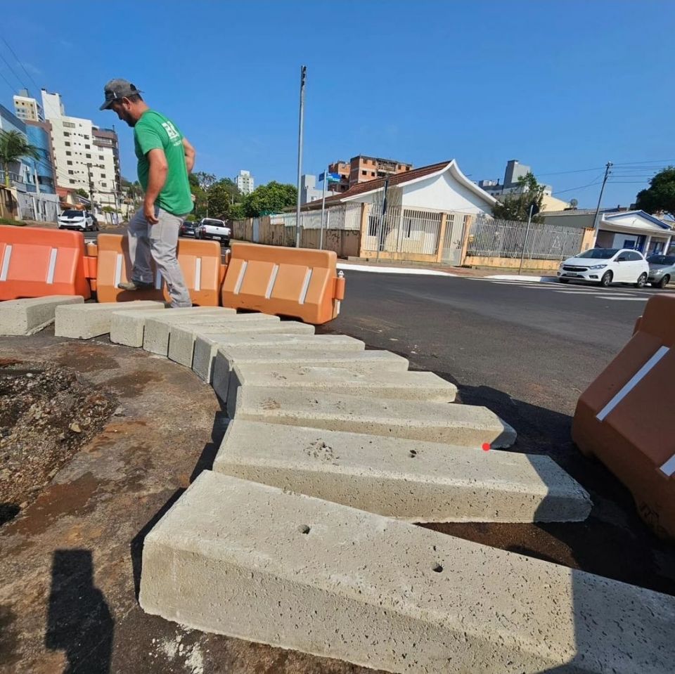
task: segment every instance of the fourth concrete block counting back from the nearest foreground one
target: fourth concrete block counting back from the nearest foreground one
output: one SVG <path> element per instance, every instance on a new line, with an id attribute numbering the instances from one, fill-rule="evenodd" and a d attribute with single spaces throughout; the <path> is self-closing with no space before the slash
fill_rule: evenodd
<path id="1" fill-rule="evenodd" d="M 240 386 L 283 387 L 375 398 L 451 403 L 457 387 L 433 372 L 355 372 L 310 365 L 236 365 L 230 377 L 228 411 L 233 416 Z"/>

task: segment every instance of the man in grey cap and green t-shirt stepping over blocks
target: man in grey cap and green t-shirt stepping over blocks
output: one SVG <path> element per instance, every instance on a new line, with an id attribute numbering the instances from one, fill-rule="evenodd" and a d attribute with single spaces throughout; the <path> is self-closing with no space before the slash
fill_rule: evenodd
<path id="1" fill-rule="evenodd" d="M 139 182 L 146 195 L 127 232 L 134 265 L 131 280 L 117 287 L 153 288 L 152 256 L 167 283 L 171 306 L 192 306 L 176 259 L 176 245 L 181 223 L 193 207 L 188 172 L 195 163 L 195 150 L 173 122 L 150 110 L 131 82 L 111 79 L 103 91 L 101 110 L 113 110 L 134 129 Z"/>

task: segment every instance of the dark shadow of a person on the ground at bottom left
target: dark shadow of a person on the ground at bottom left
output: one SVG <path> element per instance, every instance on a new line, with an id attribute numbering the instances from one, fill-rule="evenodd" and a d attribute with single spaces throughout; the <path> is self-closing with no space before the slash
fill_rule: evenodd
<path id="1" fill-rule="evenodd" d="M 50 650 L 63 650 L 63 674 L 107 674 L 115 621 L 103 592 L 94 587 L 91 550 L 56 550 L 44 637 Z"/>

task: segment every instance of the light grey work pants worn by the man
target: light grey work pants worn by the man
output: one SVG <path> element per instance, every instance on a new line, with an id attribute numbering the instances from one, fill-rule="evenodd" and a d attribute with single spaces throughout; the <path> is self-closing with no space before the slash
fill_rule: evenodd
<path id="1" fill-rule="evenodd" d="M 139 209 L 129 221 L 129 257 L 134 265 L 131 280 L 153 283 L 150 256 L 167 283 L 171 306 L 192 306 L 190 293 L 186 288 L 183 273 L 176 259 L 178 232 L 183 218 L 164 209 L 158 210 L 158 223 L 151 225 Z"/>

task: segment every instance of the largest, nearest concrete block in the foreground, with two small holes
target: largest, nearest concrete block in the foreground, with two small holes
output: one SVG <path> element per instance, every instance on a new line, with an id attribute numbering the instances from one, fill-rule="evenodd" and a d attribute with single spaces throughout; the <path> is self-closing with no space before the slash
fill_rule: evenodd
<path id="1" fill-rule="evenodd" d="M 143 544 L 141 607 L 397 673 L 666 674 L 675 598 L 205 471 Z"/>

